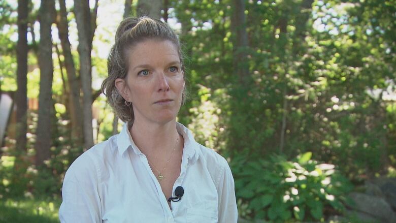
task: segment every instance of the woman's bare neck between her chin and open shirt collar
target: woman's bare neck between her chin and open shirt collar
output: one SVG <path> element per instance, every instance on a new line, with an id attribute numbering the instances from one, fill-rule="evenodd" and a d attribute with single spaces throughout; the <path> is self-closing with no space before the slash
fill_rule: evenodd
<path id="1" fill-rule="evenodd" d="M 175 147 L 179 137 L 176 120 L 167 123 L 141 122 L 135 120 L 129 129 L 132 139 L 146 155 L 160 156 L 168 154 Z"/>

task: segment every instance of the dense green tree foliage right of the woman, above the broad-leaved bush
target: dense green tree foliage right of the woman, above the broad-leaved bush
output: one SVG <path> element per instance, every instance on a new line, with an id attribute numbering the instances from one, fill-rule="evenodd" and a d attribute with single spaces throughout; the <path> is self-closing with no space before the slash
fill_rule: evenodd
<path id="1" fill-rule="evenodd" d="M 356 183 L 395 164 L 392 1 L 246 1 L 248 85 L 233 70 L 231 1 L 172 6 L 193 61 L 191 95 L 202 86 L 225 90 L 225 102 L 209 101 L 221 109 L 220 144 L 229 156 L 244 150 L 258 154 L 254 160 L 274 152 L 290 158 L 315 148 L 317 160 Z M 182 120 L 209 104 L 197 101 L 186 104 Z"/>

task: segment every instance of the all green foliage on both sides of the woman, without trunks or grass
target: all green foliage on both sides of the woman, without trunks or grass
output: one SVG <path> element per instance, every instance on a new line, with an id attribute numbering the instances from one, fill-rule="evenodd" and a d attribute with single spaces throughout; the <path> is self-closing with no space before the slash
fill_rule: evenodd
<path id="1" fill-rule="evenodd" d="M 233 1 L 168 2 L 168 21 L 180 25 L 176 29 L 187 57 L 191 95 L 178 121 L 193 131 L 198 142 L 231 160 L 242 215 L 320 220 L 342 212 L 344 193 L 351 187 L 342 175 L 354 185 L 377 175 L 395 175 L 393 0 L 245 1 L 249 47 L 242 50 L 249 59 L 248 84 L 242 84 L 235 72 L 234 52 L 241 49 L 235 47 Z M 34 25 L 38 4 L 31 4 L 28 37 L 39 38 Z M 100 1 L 92 51 L 93 91 L 107 74 L 103 55 L 118 23 L 110 18 L 122 5 L 123 1 Z M 0 0 L 0 6 L 0 83 L 2 90 L 14 91 L 16 5 Z M 69 38 L 78 68 L 77 30 L 70 7 Z M 106 10 L 101 11 L 102 7 Z M 59 44 L 56 35 L 53 42 Z M 39 92 L 34 44 L 29 39 L 28 98 L 37 98 Z M 37 116 L 32 111 L 26 152 L 14 148 L 13 139 L 2 148 L 3 198 L 59 196 L 64 172 L 84 151 L 70 138 L 69 105 L 64 97 L 67 75 L 63 85 L 57 59 L 54 68 L 58 120 L 51 158 L 43 167 L 33 165 Z M 93 107 L 101 111 L 96 115 L 99 142 L 111 136 L 114 116 L 103 95 Z"/>

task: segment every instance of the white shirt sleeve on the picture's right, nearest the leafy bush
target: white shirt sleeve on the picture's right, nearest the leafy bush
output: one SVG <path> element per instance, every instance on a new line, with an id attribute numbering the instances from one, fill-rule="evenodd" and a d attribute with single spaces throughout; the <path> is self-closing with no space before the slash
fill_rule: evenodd
<path id="1" fill-rule="evenodd" d="M 223 158 L 222 170 L 218 180 L 218 223 L 237 223 L 238 209 L 235 197 L 233 174 L 227 161 Z"/>

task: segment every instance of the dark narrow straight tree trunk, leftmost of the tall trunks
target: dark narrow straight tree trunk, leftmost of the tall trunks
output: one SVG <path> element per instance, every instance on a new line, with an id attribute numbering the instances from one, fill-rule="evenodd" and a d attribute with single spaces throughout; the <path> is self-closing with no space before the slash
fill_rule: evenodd
<path id="1" fill-rule="evenodd" d="M 17 43 L 17 84 L 15 102 L 17 106 L 16 148 L 26 150 L 27 114 L 27 13 L 28 0 L 18 0 L 18 43 Z"/>

